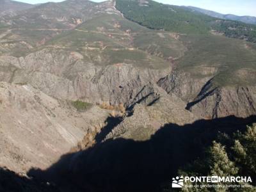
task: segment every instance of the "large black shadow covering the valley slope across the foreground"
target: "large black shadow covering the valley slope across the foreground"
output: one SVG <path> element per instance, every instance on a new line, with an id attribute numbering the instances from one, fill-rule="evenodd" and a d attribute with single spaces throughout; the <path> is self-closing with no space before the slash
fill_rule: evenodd
<path id="1" fill-rule="evenodd" d="M 219 131 L 244 131 L 253 122 L 256 116 L 167 124 L 148 141 L 107 140 L 28 175 L 54 182 L 63 191 L 161 191 L 161 184 L 177 176 L 179 168 L 202 156 Z"/>

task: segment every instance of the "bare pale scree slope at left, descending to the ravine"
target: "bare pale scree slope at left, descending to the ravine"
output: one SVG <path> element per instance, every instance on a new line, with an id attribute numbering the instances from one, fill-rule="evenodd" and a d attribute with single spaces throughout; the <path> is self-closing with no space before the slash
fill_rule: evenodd
<path id="1" fill-rule="evenodd" d="M 16 172 L 47 168 L 109 115 L 97 106 L 79 113 L 32 86 L 8 83 L 0 83 L 0 113 L 0 166 Z"/>

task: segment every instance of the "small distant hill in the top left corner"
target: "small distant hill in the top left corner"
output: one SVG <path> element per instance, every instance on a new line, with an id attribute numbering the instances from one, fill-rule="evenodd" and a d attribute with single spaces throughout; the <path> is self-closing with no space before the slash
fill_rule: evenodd
<path id="1" fill-rule="evenodd" d="M 32 8 L 33 4 L 21 3 L 10 0 L 0 0 L 0 16 L 16 15 L 18 11 Z"/>

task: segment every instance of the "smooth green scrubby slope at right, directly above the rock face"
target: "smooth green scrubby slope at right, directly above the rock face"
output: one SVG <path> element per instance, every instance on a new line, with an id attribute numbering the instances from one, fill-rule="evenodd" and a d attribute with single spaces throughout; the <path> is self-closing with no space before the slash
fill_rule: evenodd
<path id="1" fill-rule="evenodd" d="M 202 77 L 207 71 L 198 70 L 199 68 L 216 68 L 213 79 L 216 86 L 256 83 L 255 44 L 218 35 L 187 35 L 182 36 L 181 40 L 188 51 L 177 61 L 177 70 Z"/>

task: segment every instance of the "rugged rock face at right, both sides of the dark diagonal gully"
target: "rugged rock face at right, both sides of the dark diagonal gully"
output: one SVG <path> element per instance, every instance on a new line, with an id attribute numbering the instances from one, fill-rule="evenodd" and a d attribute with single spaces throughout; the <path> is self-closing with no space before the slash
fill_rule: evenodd
<path id="1" fill-rule="evenodd" d="M 202 118 L 255 115 L 255 86 L 214 86 L 213 76 L 195 78 L 189 72 L 172 72 L 157 84 L 187 103 L 186 109 Z"/>

